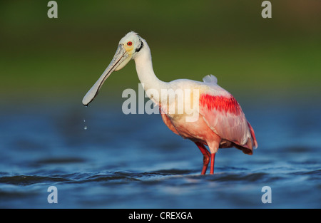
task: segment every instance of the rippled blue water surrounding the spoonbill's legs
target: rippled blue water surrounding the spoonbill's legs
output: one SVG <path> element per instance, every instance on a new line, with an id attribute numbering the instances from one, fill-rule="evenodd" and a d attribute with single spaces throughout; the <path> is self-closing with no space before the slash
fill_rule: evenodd
<path id="1" fill-rule="evenodd" d="M 160 115 L 102 101 L 1 105 L 1 208 L 321 207 L 321 104 L 240 102 L 258 149 L 219 150 L 215 175 L 200 175 L 200 151 Z"/>

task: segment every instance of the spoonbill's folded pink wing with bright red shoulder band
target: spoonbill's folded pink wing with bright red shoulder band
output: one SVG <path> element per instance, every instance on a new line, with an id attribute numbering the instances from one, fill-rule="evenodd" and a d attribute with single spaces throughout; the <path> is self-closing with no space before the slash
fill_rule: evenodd
<path id="1" fill-rule="evenodd" d="M 233 142 L 235 147 L 252 154 L 253 147 L 258 146 L 253 128 L 233 95 L 216 86 L 218 88 L 210 93 L 200 95 L 200 115 L 203 115 L 205 123 L 220 138 Z"/>

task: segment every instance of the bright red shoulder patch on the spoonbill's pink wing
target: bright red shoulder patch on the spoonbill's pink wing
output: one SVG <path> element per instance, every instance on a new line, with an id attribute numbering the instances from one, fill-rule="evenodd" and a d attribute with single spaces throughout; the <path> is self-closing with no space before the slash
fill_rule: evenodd
<path id="1" fill-rule="evenodd" d="M 220 112 L 233 113 L 234 115 L 240 115 L 242 113 L 242 108 L 240 108 L 240 104 L 233 95 L 225 97 L 201 94 L 200 106 L 206 107 L 208 110 L 215 109 Z"/>

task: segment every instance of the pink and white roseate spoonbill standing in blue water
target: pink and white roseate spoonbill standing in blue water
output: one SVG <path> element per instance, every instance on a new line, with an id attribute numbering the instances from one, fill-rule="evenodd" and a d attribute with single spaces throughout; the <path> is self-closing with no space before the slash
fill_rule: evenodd
<path id="1" fill-rule="evenodd" d="M 203 82 L 187 79 L 168 83 L 160 81 L 153 71 L 151 50 L 146 40 L 133 31 L 121 38 L 111 63 L 83 97 L 83 105 L 91 103 L 108 76 L 113 71 L 118 71 L 126 66 L 131 59 L 136 63 L 138 78 L 143 83 L 146 95 L 159 106 L 165 125 L 173 133 L 195 142 L 202 152 L 202 175 L 205 174 L 209 162 L 210 174 L 214 173 L 215 153 L 218 152 L 218 148 L 236 147 L 245 154 L 253 154 L 253 148 L 258 147 L 254 130 L 246 120 L 237 100 L 218 85 L 215 76 L 205 76 Z M 192 98 L 196 95 L 197 103 L 193 104 L 191 100 L 183 100 L 185 105 L 188 104 L 186 107 L 192 110 L 194 115 L 196 113 L 198 118 L 188 122 L 186 118 L 191 114 L 190 111 L 169 113 L 170 108 L 177 106 L 178 98 L 176 97 L 170 102 L 168 97 L 171 96 L 161 93 L 164 89 L 198 90 L 197 95 L 192 95 Z M 192 94 L 191 92 L 190 94 Z M 209 147 L 210 151 L 205 145 Z"/>

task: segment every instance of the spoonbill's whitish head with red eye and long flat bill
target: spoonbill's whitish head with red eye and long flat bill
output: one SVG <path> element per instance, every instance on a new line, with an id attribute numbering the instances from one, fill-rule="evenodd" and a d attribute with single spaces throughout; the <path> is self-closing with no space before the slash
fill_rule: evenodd
<path id="1" fill-rule="evenodd" d="M 83 97 L 83 105 L 88 105 L 91 103 L 108 76 L 110 76 L 113 71 L 119 71 L 121 68 L 126 66 L 131 59 L 134 59 L 138 55 L 144 45 L 146 45 L 146 41 L 144 41 L 141 36 L 138 36 L 138 34 L 133 31 L 127 33 L 126 36 L 121 38 L 111 63 L 109 63 L 108 67 L 98 81 L 96 81 L 88 93 L 86 93 L 86 95 Z"/>

